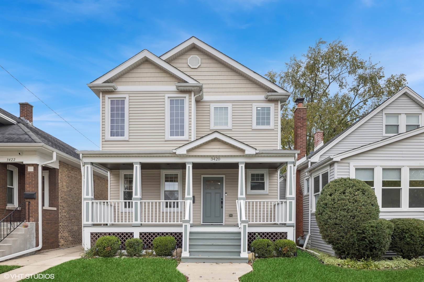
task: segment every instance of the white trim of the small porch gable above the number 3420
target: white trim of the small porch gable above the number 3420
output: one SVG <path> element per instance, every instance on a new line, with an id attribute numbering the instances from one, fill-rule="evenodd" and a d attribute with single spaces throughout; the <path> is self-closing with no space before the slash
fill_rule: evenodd
<path id="1" fill-rule="evenodd" d="M 196 148 L 196 147 L 203 145 L 203 144 L 205 144 L 209 141 L 212 141 L 214 139 L 218 139 L 222 142 L 225 142 L 229 145 L 232 145 L 236 148 L 239 148 L 240 150 L 245 151 L 245 155 L 252 156 L 252 155 L 256 154 L 255 148 L 250 147 L 250 146 L 248 146 L 248 145 L 246 145 L 246 144 L 244 144 L 240 141 L 234 140 L 234 139 L 232 139 L 232 138 L 230 138 L 230 137 L 228 137 L 228 136 L 226 136 L 226 135 L 224 135 L 220 132 L 213 132 L 213 133 L 208 134 L 204 137 L 201 137 L 201 138 L 199 138 L 195 141 L 192 141 L 192 142 L 190 142 L 186 145 L 183 145 L 183 146 L 176 149 L 176 154 L 177 155 L 185 155 L 185 154 L 187 154 L 187 151 L 190 151 L 190 149 Z"/>

